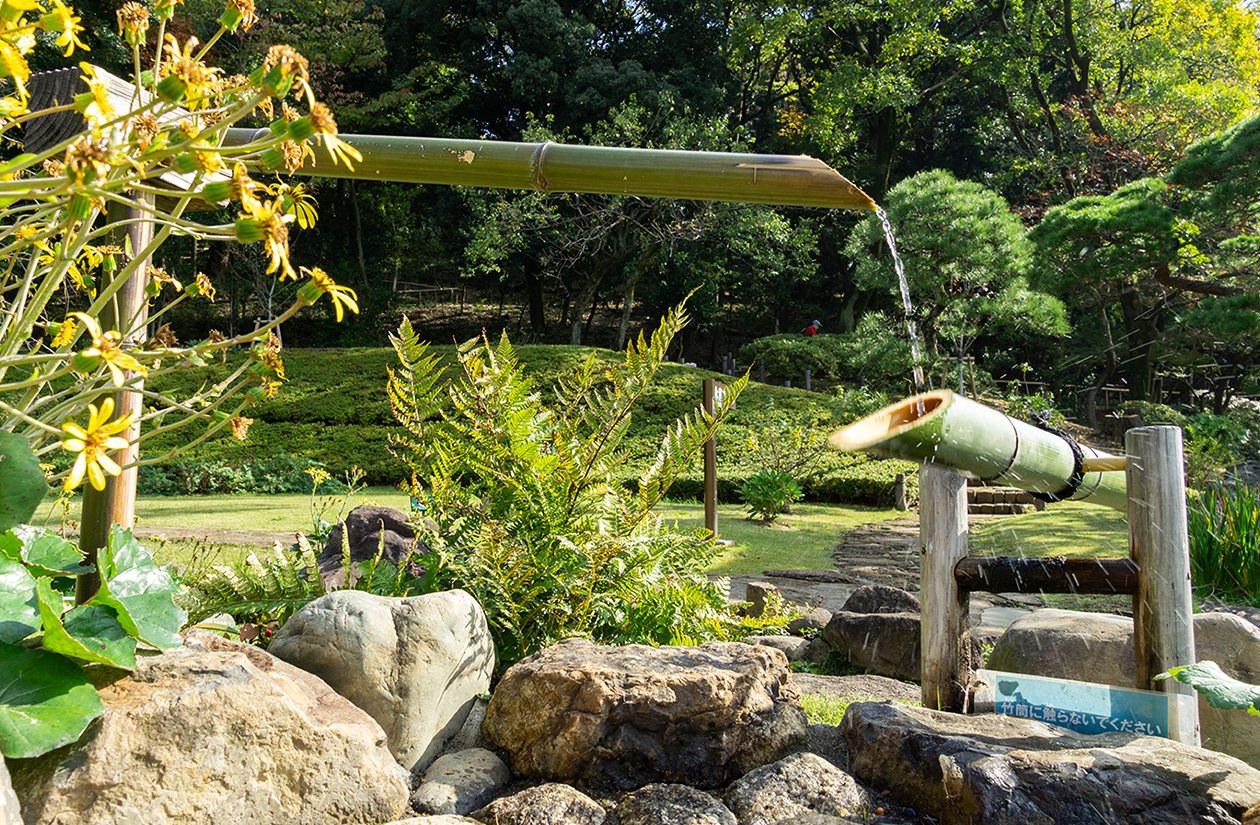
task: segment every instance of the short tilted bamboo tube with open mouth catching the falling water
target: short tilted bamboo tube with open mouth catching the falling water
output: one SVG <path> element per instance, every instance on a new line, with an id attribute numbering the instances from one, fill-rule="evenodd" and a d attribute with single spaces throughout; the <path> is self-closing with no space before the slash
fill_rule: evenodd
<path id="1" fill-rule="evenodd" d="M 941 464 L 980 481 L 1128 509 L 1124 472 L 1087 471 L 1092 447 L 1017 421 L 948 389 L 912 395 L 832 433 L 830 446 Z"/>

